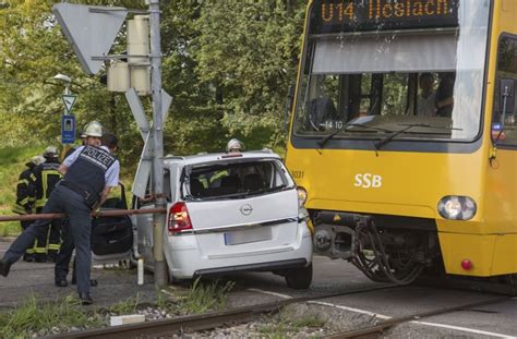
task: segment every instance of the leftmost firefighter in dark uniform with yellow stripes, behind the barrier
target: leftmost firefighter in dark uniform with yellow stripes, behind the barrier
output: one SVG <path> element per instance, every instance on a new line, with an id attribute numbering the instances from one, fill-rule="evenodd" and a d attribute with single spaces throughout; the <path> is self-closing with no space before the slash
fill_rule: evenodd
<path id="1" fill-rule="evenodd" d="M 19 215 L 29 215 L 35 213 L 35 186 L 34 182 L 36 177 L 34 175 L 34 168 L 39 164 L 44 162 L 45 158 L 41 156 L 32 157 L 28 162 L 25 164 L 27 167 L 21 174 L 16 184 L 16 202 L 13 204 L 12 210 Z M 22 226 L 22 231 L 31 226 L 33 221 L 22 220 L 20 221 Z M 33 247 L 33 246 L 31 246 Z M 34 262 L 34 249 L 28 249 L 23 255 L 25 262 Z"/>

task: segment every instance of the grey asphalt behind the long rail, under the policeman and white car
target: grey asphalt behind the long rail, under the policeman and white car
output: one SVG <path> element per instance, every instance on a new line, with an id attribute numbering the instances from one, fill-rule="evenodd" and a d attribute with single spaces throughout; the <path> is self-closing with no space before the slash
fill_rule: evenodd
<path id="1" fill-rule="evenodd" d="M 0 238 L 0 255 L 9 247 L 12 239 Z M 227 277 L 236 286 L 228 299 L 228 306 L 237 307 L 275 300 L 249 289 L 274 290 L 277 293 L 290 295 L 315 295 L 329 292 L 346 291 L 374 286 L 362 274 L 352 269 L 346 270 L 346 263 L 330 262 L 324 257 L 314 258 L 314 280 L 310 290 L 291 290 L 282 277 L 269 273 L 250 273 Z M 107 306 L 139 294 L 142 302 L 156 302 L 156 287 L 151 274 L 145 275 L 144 284 L 136 283 L 136 269 L 96 268 L 92 278 L 99 284 L 92 288 L 92 296 L 96 306 Z M 339 269 L 336 269 L 339 268 Z M 69 275 L 70 283 L 71 275 Z M 181 289 L 181 287 L 175 287 Z M 25 263 L 19 261 L 11 267 L 8 278 L 0 276 L 0 312 L 14 307 L 33 293 L 41 301 L 51 301 L 76 293 L 75 286 L 58 288 L 53 284 L 53 264 Z"/>

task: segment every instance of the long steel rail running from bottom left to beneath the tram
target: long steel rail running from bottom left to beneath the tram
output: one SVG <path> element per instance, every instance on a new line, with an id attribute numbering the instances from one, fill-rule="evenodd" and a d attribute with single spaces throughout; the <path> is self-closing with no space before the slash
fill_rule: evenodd
<path id="1" fill-rule="evenodd" d="M 256 318 L 260 314 L 278 312 L 281 307 L 293 304 L 320 300 L 325 298 L 334 298 L 348 294 L 365 293 L 400 286 L 388 284 L 369 289 L 357 289 L 341 293 L 330 293 L 313 296 L 300 296 L 292 299 L 284 299 L 276 302 L 256 304 L 251 306 L 237 307 L 223 312 L 211 312 L 201 315 L 187 315 L 170 319 L 145 322 L 140 324 L 120 325 L 115 327 L 106 327 L 98 329 L 89 329 L 83 331 L 64 332 L 50 336 L 48 338 L 142 338 L 145 336 L 165 337 L 175 332 L 192 332 L 199 330 L 212 329 L 225 325 L 240 324 Z"/>

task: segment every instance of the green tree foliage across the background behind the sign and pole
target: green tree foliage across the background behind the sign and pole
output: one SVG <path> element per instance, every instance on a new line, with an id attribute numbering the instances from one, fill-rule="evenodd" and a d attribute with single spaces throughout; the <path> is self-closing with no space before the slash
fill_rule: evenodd
<path id="1" fill-rule="evenodd" d="M 122 166 L 134 170 L 143 142 L 121 94 L 82 71 L 51 14 L 59 0 L 13 0 L 0 9 L 0 140 L 3 145 L 59 141 L 63 87 L 79 95 L 79 129 L 100 121 L 120 138 Z M 143 0 L 74 0 L 144 9 Z M 305 1 L 161 2 L 163 85 L 173 96 L 165 152 L 223 150 L 230 137 L 249 149 L 282 146 L 282 114 L 296 80 Z M 111 52 L 125 49 L 124 28 Z M 142 98 L 151 111 L 148 98 Z M 151 114 L 149 114 L 151 118 Z"/>

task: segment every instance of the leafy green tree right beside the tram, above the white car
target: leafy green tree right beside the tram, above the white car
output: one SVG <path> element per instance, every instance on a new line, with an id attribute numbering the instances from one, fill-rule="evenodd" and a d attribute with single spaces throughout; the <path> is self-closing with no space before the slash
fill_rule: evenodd
<path id="1" fill-rule="evenodd" d="M 303 5 L 294 1 L 204 2 L 194 40 L 197 72 L 230 135 L 253 148 L 284 141 L 282 114 L 296 66 Z"/>

